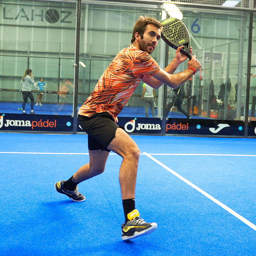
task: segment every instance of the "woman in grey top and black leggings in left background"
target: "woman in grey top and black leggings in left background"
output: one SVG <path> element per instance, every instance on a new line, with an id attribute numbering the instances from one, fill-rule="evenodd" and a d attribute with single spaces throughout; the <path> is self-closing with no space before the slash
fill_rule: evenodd
<path id="1" fill-rule="evenodd" d="M 34 78 L 32 75 L 31 69 L 26 69 L 25 74 L 22 76 L 21 79 L 22 85 L 22 96 L 23 96 L 23 103 L 22 103 L 22 114 L 26 114 L 25 106 L 27 103 L 27 98 L 30 98 L 31 101 L 31 111 L 30 114 L 34 114 L 34 96 L 31 93 L 31 85 L 34 85 Z"/>

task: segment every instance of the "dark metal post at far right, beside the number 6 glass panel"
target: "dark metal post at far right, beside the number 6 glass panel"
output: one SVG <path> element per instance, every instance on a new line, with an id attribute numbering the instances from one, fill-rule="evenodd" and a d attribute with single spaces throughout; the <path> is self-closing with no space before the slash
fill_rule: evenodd
<path id="1" fill-rule="evenodd" d="M 244 136 L 248 136 L 249 122 L 249 97 L 250 97 L 250 78 L 251 78 L 251 49 L 252 49 L 252 28 L 253 28 L 253 11 L 250 11 L 249 36 L 248 36 L 248 58 L 247 58 L 247 79 L 246 79 L 246 98 L 245 98 L 245 132 Z"/>

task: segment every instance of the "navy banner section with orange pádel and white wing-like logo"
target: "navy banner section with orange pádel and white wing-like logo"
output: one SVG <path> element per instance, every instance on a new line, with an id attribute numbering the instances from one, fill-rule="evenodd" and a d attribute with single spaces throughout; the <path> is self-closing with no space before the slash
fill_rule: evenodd
<path id="1" fill-rule="evenodd" d="M 169 118 L 166 134 L 244 136 L 243 121 Z"/>

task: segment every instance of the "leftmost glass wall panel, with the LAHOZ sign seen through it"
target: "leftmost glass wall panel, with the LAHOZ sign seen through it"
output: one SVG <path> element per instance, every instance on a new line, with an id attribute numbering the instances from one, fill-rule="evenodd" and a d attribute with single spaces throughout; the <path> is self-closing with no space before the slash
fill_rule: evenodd
<path id="1" fill-rule="evenodd" d="M 0 8 L 0 88 L 6 89 L 0 91 L 0 111 L 22 113 L 20 81 L 29 68 L 34 82 L 45 82 L 40 93 L 38 84 L 31 85 L 34 112 L 73 114 L 76 4 L 21 0 L 0 2 Z M 28 99 L 28 113 L 30 105 Z"/>

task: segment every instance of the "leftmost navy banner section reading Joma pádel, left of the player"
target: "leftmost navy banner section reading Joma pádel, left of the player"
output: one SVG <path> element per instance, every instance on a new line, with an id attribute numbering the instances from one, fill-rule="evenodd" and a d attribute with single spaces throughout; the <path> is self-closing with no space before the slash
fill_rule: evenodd
<path id="1" fill-rule="evenodd" d="M 0 131 L 72 132 L 71 116 L 1 114 Z"/>

